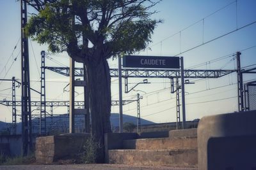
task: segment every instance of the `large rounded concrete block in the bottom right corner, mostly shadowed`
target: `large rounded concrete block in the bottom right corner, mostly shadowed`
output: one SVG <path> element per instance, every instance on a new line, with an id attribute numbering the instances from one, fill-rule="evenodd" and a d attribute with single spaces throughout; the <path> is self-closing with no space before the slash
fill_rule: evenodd
<path id="1" fill-rule="evenodd" d="M 256 111 L 204 117 L 198 124 L 198 170 L 256 169 Z"/>

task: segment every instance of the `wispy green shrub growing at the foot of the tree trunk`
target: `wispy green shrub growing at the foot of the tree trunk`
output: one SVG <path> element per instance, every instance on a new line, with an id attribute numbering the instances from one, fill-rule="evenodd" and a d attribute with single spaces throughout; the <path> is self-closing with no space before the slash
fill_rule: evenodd
<path id="1" fill-rule="evenodd" d="M 94 164 L 97 158 L 97 150 L 100 148 L 99 142 L 91 136 L 86 139 L 82 148 L 81 160 L 84 164 Z"/>

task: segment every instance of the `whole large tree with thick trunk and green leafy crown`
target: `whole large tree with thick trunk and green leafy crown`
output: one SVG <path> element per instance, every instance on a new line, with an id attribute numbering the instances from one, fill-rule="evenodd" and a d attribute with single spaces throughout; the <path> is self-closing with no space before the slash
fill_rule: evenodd
<path id="1" fill-rule="evenodd" d="M 92 132 L 99 143 L 111 132 L 111 80 L 107 59 L 147 47 L 157 23 L 150 11 L 161 0 L 23 0 L 32 14 L 26 32 L 51 52 L 86 67 Z M 103 151 L 102 151 L 103 152 Z M 100 157 L 99 159 L 100 160 Z"/>

